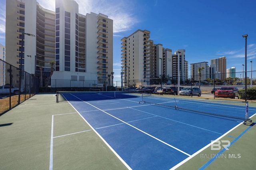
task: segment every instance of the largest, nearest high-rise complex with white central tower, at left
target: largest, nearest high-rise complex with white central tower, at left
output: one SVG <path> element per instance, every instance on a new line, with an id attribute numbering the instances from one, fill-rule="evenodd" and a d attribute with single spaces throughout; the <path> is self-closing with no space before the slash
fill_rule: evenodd
<path id="1" fill-rule="evenodd" d="M 6 0 L 6 61 L 38 77 L 42 72 L 41 86 L 52 71 L 52 87 L 70 86 L 70 80 L 72 86 L 106 84 L 113 70 L 113 20 L 79 14 L 74 0 L 56 0 L 55 7 L 51 11 L 36 0 Z"/>

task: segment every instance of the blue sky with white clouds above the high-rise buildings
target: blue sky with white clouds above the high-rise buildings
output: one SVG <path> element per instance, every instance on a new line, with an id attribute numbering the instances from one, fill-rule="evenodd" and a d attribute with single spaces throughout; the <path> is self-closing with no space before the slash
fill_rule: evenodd
<path id="1" fill-rule="evenodd" d="M 37 0 L 53 10 L 55 0 Z M 121 39 L 149 30 L 154 44 L 185 49 L 189 64 L 226 56 L 227 68 L 242 72 L 247 39 L 247 71 L 256 70 L 255 0 L 76 0 L 79 13 L 102 13 L 114 20 L 114 81 L 120 81 Z M 0 0 L 0 44 L 5 45 L 5 0 Z M 240 74 L 236 75 L 240 77 Z M 247 76 L 250 77 L 249 73 Z M 256 77 L 256 73 L 253 74 Z"/>

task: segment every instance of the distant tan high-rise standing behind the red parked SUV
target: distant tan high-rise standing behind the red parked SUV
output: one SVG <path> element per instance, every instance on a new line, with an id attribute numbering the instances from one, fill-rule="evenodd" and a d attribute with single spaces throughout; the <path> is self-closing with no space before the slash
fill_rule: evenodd
<path id="1" fill-rule="evenodd" d="M 224 78 L 226 78 L 226 69 L 227 69 L 227 59 L 225 56 L 222 56 L 220 58 L 215 58 L 210 60 L 210 64 L 215 64 L 215 73 L 218 73 L 218 76 L 220 80 L 224 81 Z"/>

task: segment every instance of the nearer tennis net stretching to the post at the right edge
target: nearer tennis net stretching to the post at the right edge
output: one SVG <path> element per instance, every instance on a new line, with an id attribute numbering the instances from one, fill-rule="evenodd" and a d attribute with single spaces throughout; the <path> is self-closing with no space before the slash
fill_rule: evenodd
<path id="1" fill-rule="evenodd" d="M 192 100 L 182 98 L 162 98 L 147 96 L 143 97 L 143 102 L 174 108 L 176 110 L 186 110 L 202 114 L 224 116 L 228 118 L 242 119 L 245 122 L 248 118 L 248 102 L 241 101 L 222 101 L 222 100 Z"/>

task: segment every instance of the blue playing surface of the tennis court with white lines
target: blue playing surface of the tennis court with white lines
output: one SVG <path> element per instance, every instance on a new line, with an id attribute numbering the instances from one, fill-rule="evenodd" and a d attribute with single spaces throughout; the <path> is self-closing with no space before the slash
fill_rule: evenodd
<path id="1" fill-rule="evenodd" d="M 238 125 L 243 121 L 238 118 L 245 114 L 245 106 L 238 104 L 180 98 L 63 96 L 133 170 L 168 170 Z M 185 109 L 175 108 L 180 105 Z M 210 114 L 191 112 L 192 107 Z"/>

